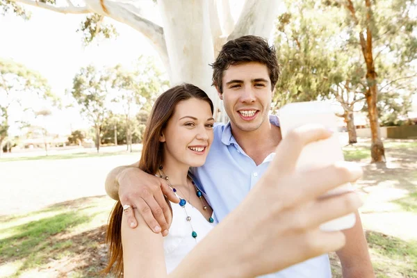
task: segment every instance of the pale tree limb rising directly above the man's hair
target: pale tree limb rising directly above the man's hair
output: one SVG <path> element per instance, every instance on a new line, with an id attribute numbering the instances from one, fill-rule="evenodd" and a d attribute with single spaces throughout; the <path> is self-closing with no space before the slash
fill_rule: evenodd
<path id="1" fill-rule="evenodd" d="M 227 40 L 234 40 L 242 35 L 258 35 L 269 38 L 277 17 L 279 2 L 277 0 L 246 0 L 234 31 Z"/>

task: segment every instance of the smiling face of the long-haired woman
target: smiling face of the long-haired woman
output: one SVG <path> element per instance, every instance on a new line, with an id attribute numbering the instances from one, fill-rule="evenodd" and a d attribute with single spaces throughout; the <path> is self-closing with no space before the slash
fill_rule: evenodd
<path id="1" fill-rule="evenodd" d="M 213 124 L 207 101 L 195 98 L 180 101 L 159 139 L 165 142 L 164 160 L 190 167 L 203 165 L 213 142 Z"/>

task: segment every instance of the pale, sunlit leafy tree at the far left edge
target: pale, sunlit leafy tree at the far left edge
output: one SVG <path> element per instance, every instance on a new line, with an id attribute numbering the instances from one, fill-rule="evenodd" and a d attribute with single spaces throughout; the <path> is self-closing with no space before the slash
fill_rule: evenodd
<path id="1" fill-rule="evenodd" d="M 59 105 L 58 97 L 51 92 L 47 80 L 38 72 L 12 60 L 0 59 L 0 149 L 3 140 L 9 136 L 10 125 L 24 124 L 22 120 L 10 122 L 12 110 L 34 113 L 33 103 L 39 99 Z"/>

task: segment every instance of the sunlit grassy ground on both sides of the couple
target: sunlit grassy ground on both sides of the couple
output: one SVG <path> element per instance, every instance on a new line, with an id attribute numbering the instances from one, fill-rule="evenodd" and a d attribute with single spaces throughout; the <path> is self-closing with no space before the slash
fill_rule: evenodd
<path id="1" fill-rule="evenodd" d="M 357 186 L 366 196 L 361 218 L 377 277 L 417 278 L 417 142 L 387 140 L 384 144 L 386 165 L 368 163 L 369 142 L 346 146 L 343 151 L 346 160 L 363 165 L 364 177 Z M 105 225 L 114 201 L 104 195 L 104 178 L 97 180 L 97 176 L 105 176 L 115 165 L 129 159 L 126 164 L 131 163 L 138 156 L 123 154 L 65 154 L 1 162 L 0 169 L 3 165 L 7 169 L 3 178 L 9 188 L 18 187 L 13 181 L 38 182 L 30 184 L 37 191 L 19 188 L 10 206 L 25 194 L 29 197 L 19 202 L 30 202 L 34 192 L 40 196 L 36 199 L 47 195 L 48 199 L 56 198 L 56 202 L 28 213 L 0 212 L 0 277 L 100 277 L 99 271 L 107 260 Z M 42 177 L 47 175 L 53 185 L 62 180 L 60 190 L 54 192 L 55 187 L 47 185 L 47 179 L 7 176 L 18 175 L 13 172 L 18 167 L 33 169 L 36 174 L 40 168 L 35 166 L 40 163 L 40 168 L 49 167 Z M 94 169 L 86 169 L 92 164 Z M 82 177 L 79 183 L 79 179 L 72 178 L 77 174 Z M 46 189 L 42 191 L 42 187 Z M 85 194 L 97 196 L 68 197 L 74 188 L 85 188 Z M 0 196 L 7 195 L 1 190 Z M 62 194 L 72 200 L 62 202 Z M 2 202 L 11 201 L 6 198 Z M 340 262 L 335 254 L 330 257 L 333 277 L 339 278 Z"/>

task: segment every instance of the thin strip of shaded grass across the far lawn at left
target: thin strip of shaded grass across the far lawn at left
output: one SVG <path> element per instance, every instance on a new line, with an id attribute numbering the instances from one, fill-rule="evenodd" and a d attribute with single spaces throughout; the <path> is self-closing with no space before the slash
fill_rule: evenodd
<path id="1" fill-rule="evenodd" d="M 12 157 L 12 158 L 1 158 L 0 163 L 2 162 L 12 162 L 12 161 L 38 161 L 38 160 L 58 160 L 58 159 L 74 159 L 74 158 L 91 158 L 91 157 L 103 157 L 103 156 L 120 156 L 120 155 L 129 155 L 129 154 L 138 154 L 139 150 L 133 150 L 133 152 L 80 152 L 75 154 L 52 154 L 49 156 L 25 156 L 25 157 Z"/>

